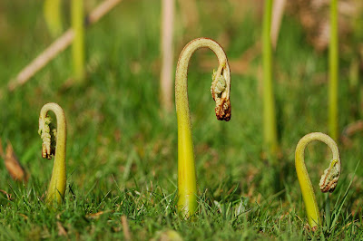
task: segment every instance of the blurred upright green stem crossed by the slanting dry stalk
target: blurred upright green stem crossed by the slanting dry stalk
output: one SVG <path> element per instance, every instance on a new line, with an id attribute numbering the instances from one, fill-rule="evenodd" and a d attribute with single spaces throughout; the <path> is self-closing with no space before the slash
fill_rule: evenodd
<path id="1" fill-rule="evenodd" d="M 74 43 L 72 53 L 74 60 L 74 79 L 82 82 L 84 77 L 84 16 L 83 0 L 72 0 L 72 28 Z"/>

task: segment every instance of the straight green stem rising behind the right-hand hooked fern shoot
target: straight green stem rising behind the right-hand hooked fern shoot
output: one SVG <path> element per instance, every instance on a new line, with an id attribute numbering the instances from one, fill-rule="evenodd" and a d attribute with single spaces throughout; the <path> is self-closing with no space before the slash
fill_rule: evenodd
<path id="1" fill-rule="evenodd" d="M 329 134 L 338 140 L 338 1 L 330 2 Z"/>

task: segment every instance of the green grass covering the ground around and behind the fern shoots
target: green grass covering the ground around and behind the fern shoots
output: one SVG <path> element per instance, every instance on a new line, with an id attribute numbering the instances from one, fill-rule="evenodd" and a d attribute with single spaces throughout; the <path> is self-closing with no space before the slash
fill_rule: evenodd
<path id="1" fill-rule="evenodd" d="M 260 54 L 246 74 L 234 74 L 231 69 L 232 118 L 228 123 L 214 116 L 212 70 L 202 72 L 198 67 L 201 55 L 215 57 L 200 51 L 192 58 L 189 97 L 200 200 L 197 217 L 177 217 L 176 115 L 165 116 L 158 97 L 159 2 L 124 1 L 87 29 L 88 74 L 83 86 L 63 88 L 72 76 L 68 49 L 11 93 L 6 91 L 8 80 L 51 43 L 51 38 L 41 17 L 41 2 L 0 4 L 6 10 L 2 12 L 6 22 L 0 25 L 0 32 L 6 33 L 0 35 L 0 138 L 4 145 L 6 140 L 12 142 L 31 174 L 27 184 L 15 183 L 0 161 L 0 189 L 12 195 L 8 200 L 0 193 L 0 239 L 63 239 L 59 226 L 71 239 L 123 238 L 123 215 L 136 240 L 157 238 L 170 229 L 185 240 L 361 239 L 361 164 L 348 189 L 363 156 L 361 134 L 352 137 L 350 147 L 338 144 L 342 175 L 329 198 L 331 221 L 324 221 L 324 227 L 315 233 L 304 228 L 294 150 L 306 133 L 328 131 L 324 111 L 328 108 L 328 61 L 327 53 L 315 53 L 305 43 L 299 24 L 291 17 L 283 20 L 273 63 L 283 154 L 276 167 L 261 158 Z M 261 29 L 251 16 L 233 22 L 239 27 L 228 26 L 232 24 L 228 10 L 218 8 L 219 16 L 225 16 L 218 24 L 210 12 L 201 14 L 201 35 L 193 37 L 211 37 L 224 45 L 227 41 L 223 42 L 221 34 L 227 34 L 230 43 L 225 50 L 232 60 L 260 39 Z M 181 41 L 182 33 L 187 34 L 181 23 L 179 14 L 175 58 L 189 41 Z M 349 112 L 348 74 L 344 74 L 348 64 L 344 64 L 339 76 L 339 130 L 354 120 Z M 68 121 L 67 190 L 59 210 L 44 205 L 53 160 L 41 158 L 37 134 L 39 111 L 49 101 L 64 108 Z M 327 153 L 321 143 L 307 149 L 307 166 L 316 189 L 319 175 L 329 164 Z M 323 212 L 326 197 L 317 193 L 317 198 Z M 339 205 L 340 212 L 334 216 L 333 207 Z M 103 214 L 92 216 L 98 212 Z"/>

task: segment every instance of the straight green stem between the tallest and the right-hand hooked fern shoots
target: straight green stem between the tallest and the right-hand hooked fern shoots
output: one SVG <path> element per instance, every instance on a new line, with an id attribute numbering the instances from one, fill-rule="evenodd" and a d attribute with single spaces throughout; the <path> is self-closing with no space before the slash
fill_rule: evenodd
<path id="1" fill-rule="evenodd" d="M 278 152 L 276 111 L 272 85 L 272 47 L 270 40 L 272 0 L 265 0 L 262 29 L 263 59 L 263 140 L 269 158 L 275 159 Z"/>

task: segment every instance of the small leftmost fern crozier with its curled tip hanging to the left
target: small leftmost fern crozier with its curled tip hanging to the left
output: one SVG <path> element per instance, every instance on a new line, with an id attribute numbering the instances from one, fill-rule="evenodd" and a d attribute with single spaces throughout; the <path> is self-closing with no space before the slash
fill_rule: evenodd
<path id="1" fill-rule="evenodd" d="M 48 111 L 54 111 L 57 120 L 57 129 L 54 129 Z M 39 135 L 43 140 L 42 156 L 45 159 L 52 159 L 54 155 L 54 167 L 52 178 L 46 195 L 46 203 L 61 204 L 65 192 L 65 143 L 66 123 L 63 109 L 56 103 L 47 103 L 40 111 Z"/>

